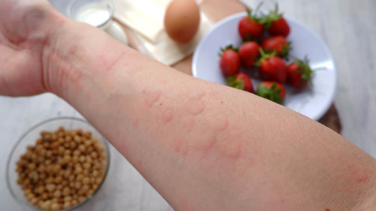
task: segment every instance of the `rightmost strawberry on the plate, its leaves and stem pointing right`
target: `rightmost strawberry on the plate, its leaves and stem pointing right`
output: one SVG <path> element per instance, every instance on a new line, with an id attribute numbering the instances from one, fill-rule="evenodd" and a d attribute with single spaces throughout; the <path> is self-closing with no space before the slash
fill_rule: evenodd
<path id="1" fill-rule="evenodd" d="M 311 80 L 312 73 L 307 58 L 296 60 L 287 67 L 288 83 L 293 87 L 303 87 Z"/>

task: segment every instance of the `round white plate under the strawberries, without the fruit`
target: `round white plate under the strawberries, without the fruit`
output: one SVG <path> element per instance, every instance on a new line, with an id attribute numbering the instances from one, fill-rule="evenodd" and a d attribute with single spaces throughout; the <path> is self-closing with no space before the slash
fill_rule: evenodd
<path id="1" fill-rule="evenodd" d="M 225 77 L 219 67 L 220 48 L 233 44 L 239 47 L 242 40 L 238 34 L 238 22 L 246 12 L 238 13 L 221 20 L 201 40 L 193 56 L 193 76 L 214 83 L 226 84 Z M 337 87 L 337 72 L 334 59 L 324 41 L 303 24 L 286 18 L 290 25 L 288 41 L 292 42 L 291 55 L 303 59 L 308 55 L 312 69 L 324 67 L 326 70 L 315 72 L 312 77 L 313 86 L 295 89 L 286 85 L 285 106 L 302 113 L 311 119 L 320 119 L 332 104 Z M 289 63 L 289 62 L 288 62 Z M 252 79 L 253 86 L 259 80 Z"/>

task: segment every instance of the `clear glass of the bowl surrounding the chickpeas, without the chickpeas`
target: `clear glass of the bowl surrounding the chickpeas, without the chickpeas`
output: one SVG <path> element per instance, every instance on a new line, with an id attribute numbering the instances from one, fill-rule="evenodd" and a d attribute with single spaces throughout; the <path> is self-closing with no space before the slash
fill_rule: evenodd
<path id="1" fill-rule="evenodd" d="M 24 192 L 21 189 L 21 186 L 17 183 L 18 179 L 18 173 L 15 171 L 17 168 L 16 162 L 20 158 L 22 154 L 26 152 L 26 147 L 28 145 L 35 145 L 36 140 L 40 138 L 41 131 L 56 131 L 58 128 L 62 126 L 66 130 L 76 130 L 76 129 L 82 129 L 83 131 L 91 131 L 92 136 L 98 138 L 98 142 L 102 143 L 103 146 L 105 146 L 105 151 L 107 154 L 107 167 L 105 175 L 103 176 L 102 182 L 98 185 L 98 188 L 92 193 L 90 196 L 88 196 L 83 202 L 78 203 L 77 205 L 74 205 L 68 209 L 61 209 L 61 210 L 71 210 L 74 208 L 77 208 L 78 206 L 82 205 L 83 203 L 87 202 L 89 199 L 94 196 L 94 194 L 97 193 L 97 191 L 102 186 L 103 182 L 106 179 L 108 169 L 109 169 L 109 163 L 110 163 L 110 152 L 107 140 L 88 122 L 86 122 L 83 119 L 79 118 L 73 118 L 73 117 L 59 117 L 59 118 L 52 118 L 48 119 L 46 121 L 43 121 L 29 130 L 27 130 L 17 141 L 15 146 L 13 147 L 11 151 L 11 155 L 8 158 L 7 166 L 6 166 L 6 181 L 9 188 L 9 191 L 11 192 L 12 196 L 19 202 L 20 204 L 29 207 L 33 210 L 42 210 L 39 209 L 38 206 L 32 205 L 29 203 L 29 201 L 26 199 L 26 196 L 24 196 Z"/>

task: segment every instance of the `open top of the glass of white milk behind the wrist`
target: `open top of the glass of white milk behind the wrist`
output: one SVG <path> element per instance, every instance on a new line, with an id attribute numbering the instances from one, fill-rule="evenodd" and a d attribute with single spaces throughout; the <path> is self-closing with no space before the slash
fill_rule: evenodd
<path id="1" fill-rule="evenodd" d="M 114 13 L 113 0 L 73 0 L 67 8 L 68 17 L 102 30 L 111 25 Z"/>

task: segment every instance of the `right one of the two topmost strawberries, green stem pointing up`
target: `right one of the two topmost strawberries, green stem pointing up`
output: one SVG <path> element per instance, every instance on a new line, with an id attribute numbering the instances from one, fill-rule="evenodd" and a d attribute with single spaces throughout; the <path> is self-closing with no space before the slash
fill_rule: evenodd
<path id="1" fill-rule="evenodd" d="M 265 29 L 271 35 L 281 35 L 287 37 L 290 33 L 290 27 L 288 26 L 285 18 L 282 17 L 282 13 L 278 13 L 278 4 L 275 5 L 275 10 L 270 11 L 268 15 L 264 15 Z"/>

